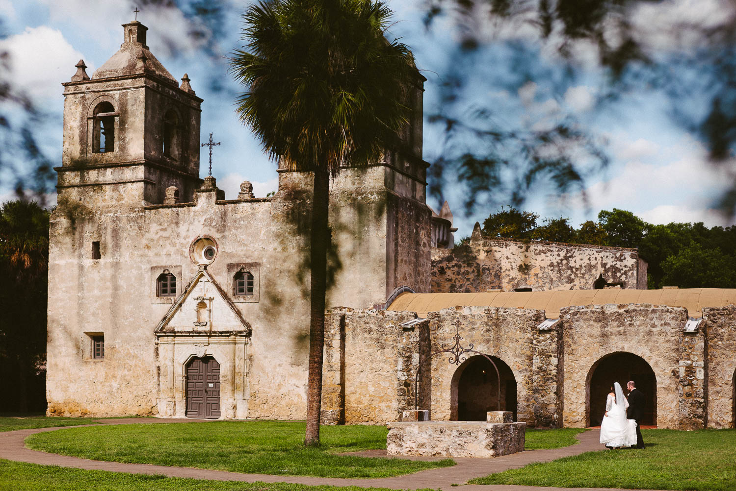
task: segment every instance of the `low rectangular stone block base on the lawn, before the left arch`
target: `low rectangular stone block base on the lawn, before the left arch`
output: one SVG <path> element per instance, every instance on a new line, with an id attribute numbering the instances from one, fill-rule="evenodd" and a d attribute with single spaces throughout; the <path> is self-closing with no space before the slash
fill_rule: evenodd
<path id="1" fill-rule="evenodd" d="M 406 421 L 387 426 L 388 455 L 498 457 L 524 451 L 526 423 Z"/>

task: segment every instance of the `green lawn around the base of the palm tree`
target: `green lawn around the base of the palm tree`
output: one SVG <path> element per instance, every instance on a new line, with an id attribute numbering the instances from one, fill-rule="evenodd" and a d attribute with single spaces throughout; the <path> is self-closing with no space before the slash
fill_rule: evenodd
<path id="1" fill-rule="evenodd" d="M 376 478 L 455 464 L 336 455 L 386 448 L 385 426 L 323 426 L 320 448 L 304 447 L 304 431 L 305 423 L 276 421 L 130 424 L 35 434 L 26 446 L 85 459 L 277 476 Z"/>

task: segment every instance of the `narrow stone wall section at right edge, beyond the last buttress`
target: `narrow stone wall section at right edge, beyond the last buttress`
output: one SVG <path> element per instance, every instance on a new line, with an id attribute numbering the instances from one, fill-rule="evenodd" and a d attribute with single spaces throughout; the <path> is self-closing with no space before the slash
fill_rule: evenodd
<path id="1" fill-rule="evenodd" d="M 707 331 L 708 427 L 734 428 L 736 306 L 703 309 L 703 316 Z"/>

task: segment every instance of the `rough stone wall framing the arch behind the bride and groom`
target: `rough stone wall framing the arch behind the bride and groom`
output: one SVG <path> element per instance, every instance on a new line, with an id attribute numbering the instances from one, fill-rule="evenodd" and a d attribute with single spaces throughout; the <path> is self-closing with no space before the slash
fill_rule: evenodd
<path id="1" fill-rule="evenodd" d="M 567 307 L 561 310 L 560 319 L 565 426 L 586 425 L 590 404 L 587 385 L 596 362 L 628 352 L 643 358 L 654 370 L 657 426 L 703 427 L 704 334 L 683 333 L 687 310 L 649 304 Z"/>

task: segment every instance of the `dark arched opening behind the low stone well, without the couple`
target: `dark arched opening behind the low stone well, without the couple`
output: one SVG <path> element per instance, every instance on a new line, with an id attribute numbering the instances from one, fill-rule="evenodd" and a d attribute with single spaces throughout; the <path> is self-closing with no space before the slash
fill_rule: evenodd
<path id="1" fill-rule="evenodd" d="M 489 356 L 498 375 L 485 356 L 471 356 L 453 375 L 450 386 L 450 420 L 485 421 L 486 412 L 496 411 L 500 375 L 500 410 L 517 418 L 517 384 L 509 365 L 497 356 Z"/>

